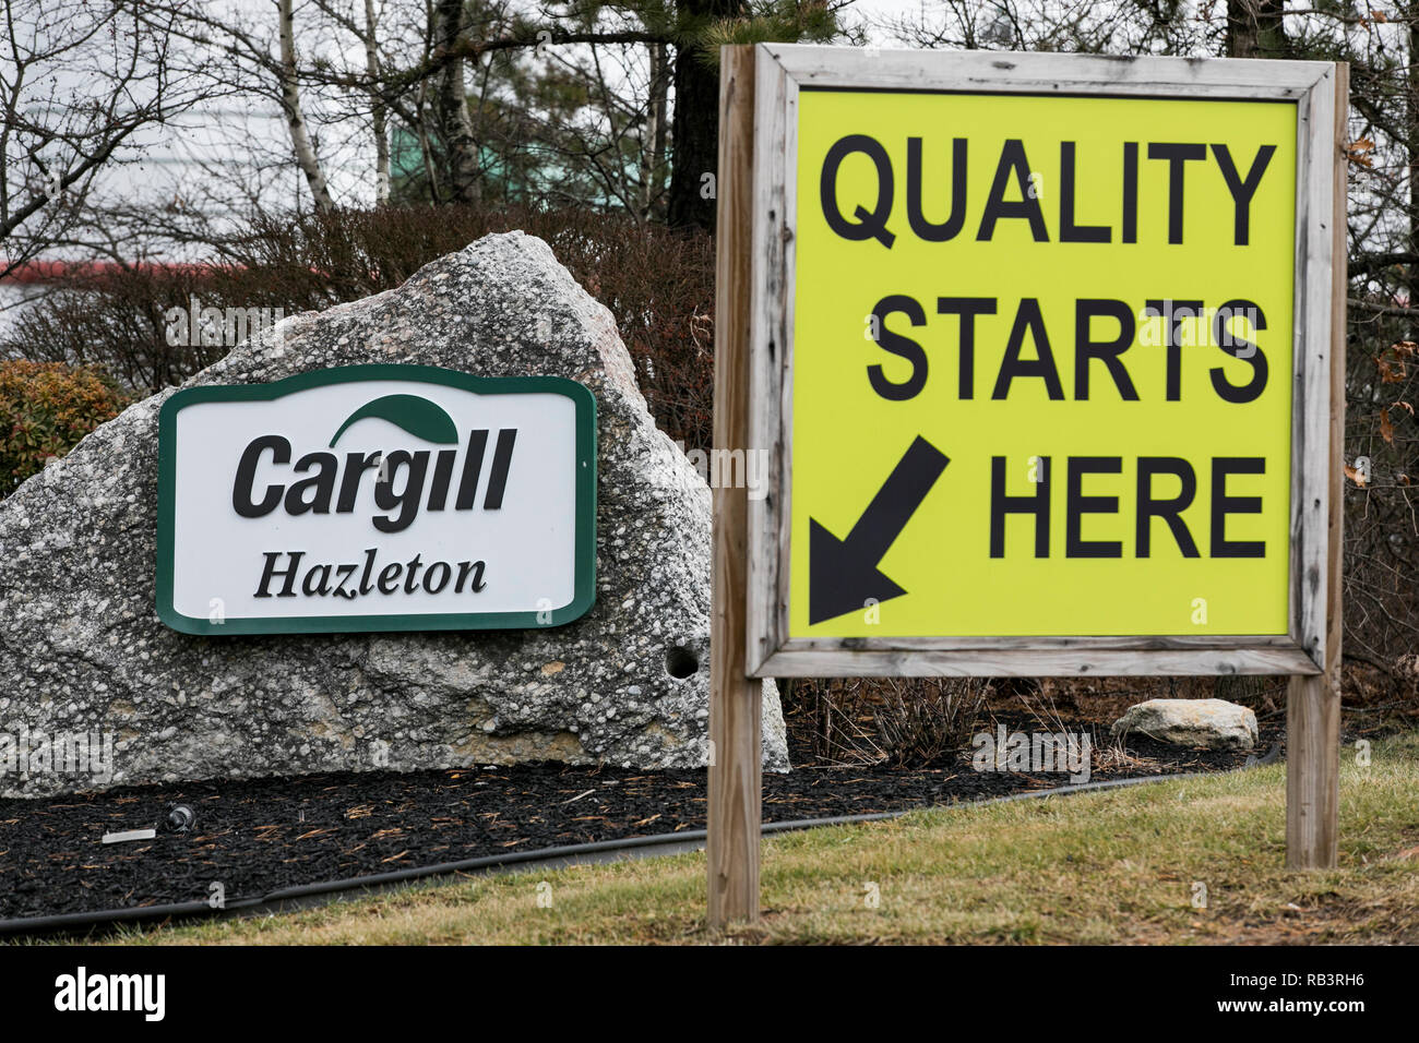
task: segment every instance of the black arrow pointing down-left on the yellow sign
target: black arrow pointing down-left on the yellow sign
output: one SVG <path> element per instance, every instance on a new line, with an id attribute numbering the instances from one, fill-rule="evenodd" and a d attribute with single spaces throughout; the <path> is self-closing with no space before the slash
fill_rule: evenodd
<path id="1" fill-rule="evenodd" d="M 877 562 L 911 521 L 951 460 L 917 436 L 877 490 L 846 539 L 807 519 L 807 622 L 860 612 L 868 599 L 885 602 L 907 593 L 877 570 Z"/>

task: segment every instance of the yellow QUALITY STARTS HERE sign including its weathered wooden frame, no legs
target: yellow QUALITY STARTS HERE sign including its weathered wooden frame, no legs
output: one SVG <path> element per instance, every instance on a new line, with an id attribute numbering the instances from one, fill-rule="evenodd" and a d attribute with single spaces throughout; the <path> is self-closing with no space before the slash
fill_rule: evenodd
<path id="1" fill-rule="evenodd" d="M 1324 671 L 1344 68 L 755 54 L 717 346 L 766 475 L 749 671 Z"/>

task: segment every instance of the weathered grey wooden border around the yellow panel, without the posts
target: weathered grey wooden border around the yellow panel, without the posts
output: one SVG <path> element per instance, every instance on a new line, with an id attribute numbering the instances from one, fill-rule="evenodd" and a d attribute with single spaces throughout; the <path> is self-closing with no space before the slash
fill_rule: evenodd
<path id="1" fill-rule="evenodd" d="M 755 72 L 748 446 L 769 450 L 773 491 L 749 502 L 748 661 L 758 677 L 1320 674 L 1325 670 L 1331 343 L 1344 338 L 1335 223 L 1331 62 L 1120 60 L 982 51 L 761 44 Z M 790 637 L 792 372 L 800 91 L 1274 101 L 1297 106 L 1290 633 L 1144 637 Z M 1337 318 L 1338 316 L 1338 318 Z M 1340 322 L 1337 326 L 1335 324 Z M 1337 332 L 1337 329 L 1340 332 Z M 1341 339 L 1338 343 L 1344 345 Z"/>

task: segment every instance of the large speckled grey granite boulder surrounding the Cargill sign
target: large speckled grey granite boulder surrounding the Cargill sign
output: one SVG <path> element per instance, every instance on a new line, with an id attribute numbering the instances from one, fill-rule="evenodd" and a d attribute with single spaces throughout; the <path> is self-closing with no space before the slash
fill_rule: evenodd
<path id="1" fill-rule="evenodd" d="M 541 240 L 488 236 L 399 289 L 291 316 L 184 386 L 370 362 L 555 375 L 593 392 L 592 610 L 545 630 L 169 630 L 155 612 L 163 392 L 0 501 L 0 796 L 528 759 L 707 762 L 710 491 L 656 429 L 606 308 Z M 763 719 L 765 766 L 786 771 L 772 683 Z"/>

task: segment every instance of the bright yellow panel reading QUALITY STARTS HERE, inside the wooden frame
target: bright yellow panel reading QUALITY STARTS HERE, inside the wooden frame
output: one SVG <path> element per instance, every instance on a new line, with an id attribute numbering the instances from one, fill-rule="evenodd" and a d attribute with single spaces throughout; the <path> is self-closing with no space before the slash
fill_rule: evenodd
<path id="1" fill-rule="evenodd" d="M 1286 634 L 1297 105 L 797 99 L 790 637 Z"/>

